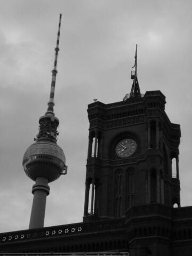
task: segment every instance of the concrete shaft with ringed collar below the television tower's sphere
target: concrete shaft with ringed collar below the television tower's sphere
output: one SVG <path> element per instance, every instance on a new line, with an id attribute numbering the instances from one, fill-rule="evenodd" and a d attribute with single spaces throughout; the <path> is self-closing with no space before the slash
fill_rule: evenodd
<path id="1" fill-rule="evenodd" d="M 49 195 L 50 187 L 48 186 L 48 179 L 38 177 L 36 183 L 32 188 L 34 194 L 33 205 L 31 209 L 31 216 L 29 222 L 29 229 L 43 228 L 45 218 L 46 196 Z"/>

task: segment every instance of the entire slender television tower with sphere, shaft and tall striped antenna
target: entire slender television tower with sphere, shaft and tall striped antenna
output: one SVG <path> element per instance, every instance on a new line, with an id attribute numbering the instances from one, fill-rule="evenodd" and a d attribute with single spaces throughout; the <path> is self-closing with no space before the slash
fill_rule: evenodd
<path id="1" fill-rule="evenodd" d="M 67 173 L 66 158 L 63 150 L 57 145 L 57 127 L 59 119 L 54 115 L 54 90 L 57 75 L 57 58 L 59 52 L 59 36 L 61 27 L 61 14 L 55 47 L 54 67 L 52 70 L 50 99 L 44 116 L 39 118 L 39 133 L 23 156 L 22 165 L 27 176 L 35 181 L 32 188 L 34 194 L 31 209 L 29 229 L 44 226 L 46 196 L 49 195 L 49 182 Z"/>

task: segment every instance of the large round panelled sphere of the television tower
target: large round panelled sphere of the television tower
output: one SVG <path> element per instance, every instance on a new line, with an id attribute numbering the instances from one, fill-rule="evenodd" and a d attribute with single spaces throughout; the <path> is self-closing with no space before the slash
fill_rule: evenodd
<path id="1" fill-rule="evenodd" d="M 35 181 L 37 177 L 44 177 L 51 182 L 65 170 L 66 158 L 57 143 L 40 139 L 26 150 L 22 165 L 30 179 Z"/>

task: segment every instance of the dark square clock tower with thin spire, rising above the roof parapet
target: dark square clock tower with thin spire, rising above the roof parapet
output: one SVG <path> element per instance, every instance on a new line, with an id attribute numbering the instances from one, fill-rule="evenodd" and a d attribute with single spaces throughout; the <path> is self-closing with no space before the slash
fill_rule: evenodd
<path id="1" fill-rule="evenodd" d="M 88 106 L 84 222 L 125 217 L 133 206 L 180 206 L 180 125 L 161 91 L 140 93 L 137 49 L 134 67 L 123 101 Z"/>

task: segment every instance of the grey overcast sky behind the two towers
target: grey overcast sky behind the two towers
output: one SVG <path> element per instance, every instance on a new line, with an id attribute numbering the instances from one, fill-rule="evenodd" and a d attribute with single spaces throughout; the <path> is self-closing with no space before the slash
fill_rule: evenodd
<path id="1" fill-rule="evenodd" d="M 82 221 L 87 104 L 121 101 L 131 90 L 138 44 L 142 93 L 161 90 L 181 124 L 181 205 L 192 205 L 192 1 L 0 1 L 0 232 L 27 229 L 34 184 L 22 169 L 49 99 L 62 13 L 55 115 L 68 174 L 50 183 L 45 226 Z"/>

